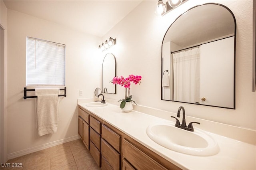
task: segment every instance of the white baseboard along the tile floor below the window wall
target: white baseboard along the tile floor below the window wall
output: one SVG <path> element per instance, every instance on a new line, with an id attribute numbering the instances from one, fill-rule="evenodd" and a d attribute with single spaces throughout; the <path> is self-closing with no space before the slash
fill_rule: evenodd
<path id="1" fill-rule="evenodd" d="M 23 156 L 23 155 L 26 155 L 26 154 L 30 154 L 30 153 L 33 153 L 33 152 L 36 152 L 36 151 L 39 151 L 39 150 L 43 150 L 43 149 L 46 149 L 46 148 L 50 148 L 52 146 L 56 146 L 58 144 L 63 144 L 63 143 L 66 143 L 66 142 L 70 142 L 72 140 L 76 140 L 76 139 L 79 139 L 79 138 L 80 138 L 79 135 L 75 135 L 75 136 L 72 136 L 72 137 L 69 137 L 69 138 L 64 138 L 64 139 L 61 139 L 61 140 L 56 140 L 54 142 L 42 144 L 40 146 L 35 146 L 35 147 L 32 147 L 32 148 L 20 150 L 18 152 L 13 152 L 13 153 L 7 154 L 7 159 L 10 160 L 10 159 L 13 159 L 13 158 L 17 158 L 17 157 L 20 157 L 20 156 Z"/>

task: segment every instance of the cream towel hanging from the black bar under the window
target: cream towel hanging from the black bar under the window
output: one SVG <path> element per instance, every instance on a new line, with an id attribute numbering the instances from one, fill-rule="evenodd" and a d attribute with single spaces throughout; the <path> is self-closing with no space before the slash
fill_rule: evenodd
<path id="1" fill-rule="evenodd" d="M 35 89 L 36 102 L 36 127 L 38 135 L 57 132 L 58 127 L 58 103 L 60 89 Z"/>

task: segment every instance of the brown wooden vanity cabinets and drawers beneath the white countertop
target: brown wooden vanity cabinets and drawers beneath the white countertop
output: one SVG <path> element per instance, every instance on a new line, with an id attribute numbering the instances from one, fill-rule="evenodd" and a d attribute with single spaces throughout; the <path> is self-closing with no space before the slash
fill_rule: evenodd
<path id="1" fill-rule="evenodd" d="M 82 119 L 84 115 L 87 115 L 85 117 L 87 120 Z M 98 117 L 87 107 L 83 107 L 82 104 L 79 106 L 78 121 L 79 135 L 83 142 L 86 140 L 84 142 L 86 148 L 102 170 L 181 169 L 149 150 L 128 136 L 129 134 L 122 132 L 121 129 L 110 125 L 105 119 Z M 90 130 L 88 130 L 88 122 Z"/>

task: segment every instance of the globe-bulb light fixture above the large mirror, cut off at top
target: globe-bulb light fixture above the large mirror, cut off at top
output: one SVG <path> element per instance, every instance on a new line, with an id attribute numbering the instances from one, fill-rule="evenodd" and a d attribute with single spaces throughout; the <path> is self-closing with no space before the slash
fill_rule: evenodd
<path id="1" fill-rule="evenodd" d="M 155 13 L 158 16 L 164 16 L 167 12 L 170 12 L 174 8 L 180 6 L 180 4 L 183 4 L 185 1 L 188 0 L 168 0 L 168 3 L 164 3 L 163 0 L 158 0 Z"/>

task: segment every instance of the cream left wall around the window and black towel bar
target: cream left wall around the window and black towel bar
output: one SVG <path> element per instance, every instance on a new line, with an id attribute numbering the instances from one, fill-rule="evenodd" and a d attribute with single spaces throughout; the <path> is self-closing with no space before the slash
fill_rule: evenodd
<path id="1" fill-rule="evenodd" d="M 9 9 L 7 21 L 8 154 L 77 136 L 77 99 L 93 97 L 94 89 L 100 87 L 103 57 L 98 57 L 98 44 L 101 39 Z M 66 45 L 67 97 L 60 97 L 56 134 L 38 136 L 35 99 L 23 99 L 23 88 L 26 86 L 26 36 Z M 78 96 L 79 89 L 84 91 L 83 96 Z"/>

